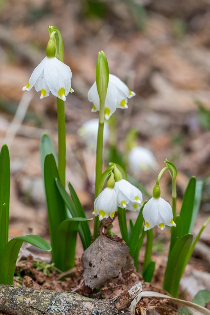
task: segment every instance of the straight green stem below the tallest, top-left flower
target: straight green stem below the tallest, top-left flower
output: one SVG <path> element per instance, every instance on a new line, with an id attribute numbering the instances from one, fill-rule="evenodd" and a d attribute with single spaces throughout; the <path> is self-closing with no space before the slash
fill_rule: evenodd
<path id="1" fill-rule="evenodd" d="M 65 187 L 66 143 L 65 143 L 65 105 L 64 101 L 57 97 L 58 113 L 58 173 L 60 182 Z"/>

